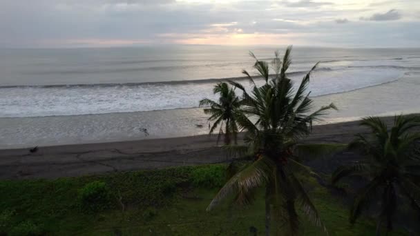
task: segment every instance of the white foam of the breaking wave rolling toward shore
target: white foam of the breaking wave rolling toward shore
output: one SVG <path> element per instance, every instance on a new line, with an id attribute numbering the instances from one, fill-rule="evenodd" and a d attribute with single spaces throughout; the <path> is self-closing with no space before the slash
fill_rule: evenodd
<path id="1" fill-rule="evenodd" d="M 396 68 L 318 70 L 312 75 L 312 96 L 327 95 L 394 81 Z M 301 76 L 294 76 L 297 82 Z M 247 81 L 242 83 L 249 87 Z M 51 88 L 1 88 L 0 117 L 86 115 L 193 108 L 204 97 L 216 99 L 211 83 L 143 84 Z"/>

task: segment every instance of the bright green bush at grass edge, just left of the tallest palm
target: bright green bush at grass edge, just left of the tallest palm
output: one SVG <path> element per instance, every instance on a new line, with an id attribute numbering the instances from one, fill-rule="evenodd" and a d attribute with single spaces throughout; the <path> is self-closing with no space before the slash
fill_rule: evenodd
<path id="1" fill-rule="evenodd" d="M 226 183 L 226 171 L 224 165 L 198 167 L 191 172 L 191 182 L 196 187 L 220 188 Z"/>

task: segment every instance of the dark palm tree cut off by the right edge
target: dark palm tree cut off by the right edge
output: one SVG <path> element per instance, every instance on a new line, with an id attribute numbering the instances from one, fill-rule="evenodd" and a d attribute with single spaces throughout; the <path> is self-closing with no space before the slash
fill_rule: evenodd
<path id="1" fill-rule="evenodd" d="M 367 117 L 361 122 L 372 130 L 372 137 L 361 134 L 350 144 L 365 157 L 348 166 L 341 166 L 332 175 L 332 184 L 343 177 L 359 175 L 369 182 L 361 188 L 350 210 L 350 223 L 354 224 L 363 209 L 381 201 L 376 235 L 381 225 L 387 232 L 392 230 L 392 219 L 398 206 L 398 195 L 405 196 L 415 210 L 420 210 L 420 133 L 410 132 L 420 126 L 420 117 L 402 115 L 394 118 L 394 126 L 388 126 L 379 117 Z"/>

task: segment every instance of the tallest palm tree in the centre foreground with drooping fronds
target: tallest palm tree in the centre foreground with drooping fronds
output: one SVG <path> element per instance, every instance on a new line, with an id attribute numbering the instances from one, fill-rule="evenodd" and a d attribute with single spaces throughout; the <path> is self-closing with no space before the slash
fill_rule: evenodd
<path id="1" fill-rule="evenodd" d="M 326 110 L 334 108 L 333 104 L 324 106 L 313 113 L 312 99 L 306 92 L 311 72 L 305 75 L 294 92 L 293 82 L 287 77 L 286 71 L 291 63 L 292 46 L 287 48 L 283 61 L 275 53 L 272 61 L 274 76 L 269 75 L 269 63 L 256 59 L 254 68 L 265 80 L 262 86 L 256 86 L 254 79 L 247 71 L 243 71 L 253 85 L 247 92 L 240 84 L 231 84 L 242 90 L 241 110 L 236 115 L 238 126 L 245 132 L 245 145 L 232 147 L 242 153 L 255 157 L 252 164 L 233 175 L 223 186 L 207 210 L 211 210 L 222 199 L 233 194 L 240 204 L 249 204 L 254 193 L 260 187 L 265 187 L 265 232 L 266 235 L 283 231 L 284 235 L 296 235 L 299 221 L 296 213 L 296 203 L 300 203 L 303 213 L 318 226 L 323 226 L 321 219 L 309 199 L 305 188 L 294 174 L 293 168 L 307 167 L 294 160 L 293 148 L 297 141 L 308 135 L 312 121 L 320 119 Z M 253 122 L 253 121 L 255 122 Z M 271 222 L 276 227 L 271 229 Z M 323 229 L 326 231 L 325 227 Z"/>

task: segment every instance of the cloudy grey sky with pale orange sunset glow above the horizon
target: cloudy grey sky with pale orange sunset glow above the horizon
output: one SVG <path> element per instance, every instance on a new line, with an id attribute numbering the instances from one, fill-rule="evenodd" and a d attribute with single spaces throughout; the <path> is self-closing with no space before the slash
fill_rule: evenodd
<path id="1" fill-rule="evenodd" d="M 420 0 L 0 0 L 0 48 L 420 47 Z"/>

